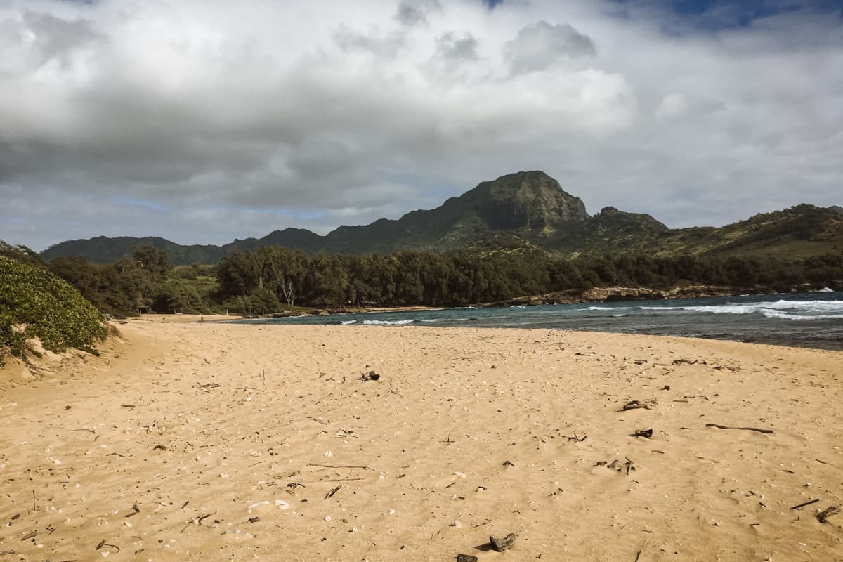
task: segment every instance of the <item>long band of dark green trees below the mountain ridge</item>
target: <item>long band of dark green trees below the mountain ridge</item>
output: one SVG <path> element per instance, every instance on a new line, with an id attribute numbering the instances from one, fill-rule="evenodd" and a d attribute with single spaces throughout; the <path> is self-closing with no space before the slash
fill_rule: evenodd
<path id="1" fill-rule="evenodd" d="M 164 250 L 140 247 L 132 259 L 113 264 L 62 257 L 46 267 L 101 312 L 114 316 L 142 311 L 256 315 L 296 307 L 453 307 L 594 286 L 668 289 L 703 284 L 785 292 L 809 284 L 843 289 L 835 286 L 843 282 L 843 254 L 803 260 L 633 254 L 563 260 L 512 249 L 306 255 L 265 246 L 235 251 L 217 265 L 174 267 Z"/>

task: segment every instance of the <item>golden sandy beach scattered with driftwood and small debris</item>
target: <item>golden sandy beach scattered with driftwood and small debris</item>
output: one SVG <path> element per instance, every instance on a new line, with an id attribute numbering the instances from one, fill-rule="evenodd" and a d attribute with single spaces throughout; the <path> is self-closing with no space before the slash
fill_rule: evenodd
<path id="1" fill-rule="evenodd" d="M 0 562 L 843 560 L 841 352 L 117 328 L 0 371 Z"/>

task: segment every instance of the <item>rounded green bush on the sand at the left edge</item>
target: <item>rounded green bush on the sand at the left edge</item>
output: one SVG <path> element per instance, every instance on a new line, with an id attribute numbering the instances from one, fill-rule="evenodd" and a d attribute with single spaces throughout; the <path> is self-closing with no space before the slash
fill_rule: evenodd
<path id="1" fill-rule="evenodd" d="M 94 345 L 105 335 L 97 309 L 67 282 L 0 255 L 0 361 L 6 352 L 25 357 L 30 338 L 50 351 L 72 347 L 96 354 Z"/>

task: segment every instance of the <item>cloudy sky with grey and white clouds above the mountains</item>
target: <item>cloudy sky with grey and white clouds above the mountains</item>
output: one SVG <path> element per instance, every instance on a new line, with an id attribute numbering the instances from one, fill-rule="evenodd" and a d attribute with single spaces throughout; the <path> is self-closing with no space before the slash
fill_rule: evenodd
<path id="1" fill-rule="evenodd" d="M 843 204 L 840 0 L 0 0 L 0 239 L 223 244 L 542 169 L 669 227 Z"/>

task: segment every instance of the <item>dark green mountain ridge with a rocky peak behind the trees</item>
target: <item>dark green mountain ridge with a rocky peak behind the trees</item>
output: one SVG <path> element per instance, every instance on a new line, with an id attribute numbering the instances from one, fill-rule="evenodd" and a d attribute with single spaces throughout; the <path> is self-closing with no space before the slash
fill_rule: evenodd
<path id="1" fill-rule="evenodd" d="M 757 214 L 724 227 L 671 229 L 647 213 L 606 206 L 589 215 L 583 201 L 539 170 L 484 181 L 434 209 L 409 211 L 398 219 L 337 227 L 325 236 L 303 228 L 275 230 L 263 238 L 231 243 L 181 245 L 160 237 L 105 236 L 68 240 L 40 253 L 44 260 L 80 255 L 92 263 L 130 257 L 142 245 L 166 250 L 176 265 L 217 263 L 235 250 L 280 245 L 306 254 L 389 254 L 407 249 L 449 251 L 538 247 L 577 257 L 613 252 L 676 254 L 824 254 L 843 249 L 840 207 L 798 205 Z"/>

